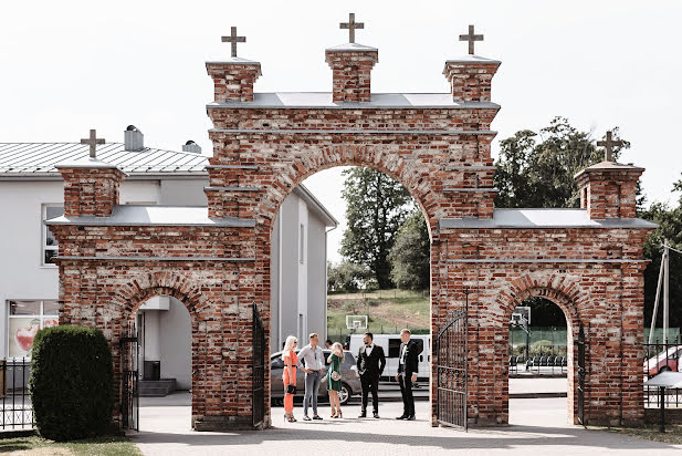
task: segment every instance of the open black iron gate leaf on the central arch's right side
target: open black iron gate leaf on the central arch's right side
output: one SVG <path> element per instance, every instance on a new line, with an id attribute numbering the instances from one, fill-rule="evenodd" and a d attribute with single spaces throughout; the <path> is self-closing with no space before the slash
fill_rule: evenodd
<path id="1" fill-rule="evenodd" d="M 469 365 L 469 297 L 438 332 L 437 340 L 438 423 L 468 429 L 466 394 Z"/>

